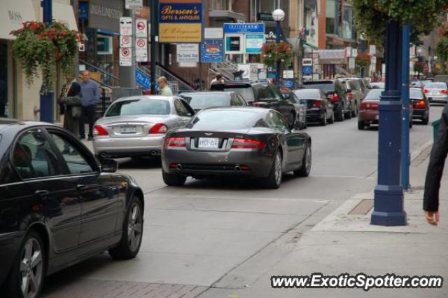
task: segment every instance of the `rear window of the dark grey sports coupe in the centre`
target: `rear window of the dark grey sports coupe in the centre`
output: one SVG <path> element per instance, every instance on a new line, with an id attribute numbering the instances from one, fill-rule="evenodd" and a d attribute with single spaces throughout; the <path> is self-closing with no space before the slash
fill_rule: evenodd
<path id="1" fill-rule="evenodd" d="M 254 126 L 258 113 L 235 110 L 204 110 L 197 114 L 187 128 L 197 130 L 239 130 Z"/>

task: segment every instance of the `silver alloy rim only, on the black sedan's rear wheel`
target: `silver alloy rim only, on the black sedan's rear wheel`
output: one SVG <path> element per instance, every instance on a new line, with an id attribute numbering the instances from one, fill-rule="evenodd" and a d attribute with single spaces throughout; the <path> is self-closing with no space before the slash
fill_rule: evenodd
<path id="1" fill-rule="evenodd" d="M 20 289 L 25 298 L 34 298 L 43 281 L 43 258 L 41 245 L 36 238 L 29 238 L 20 258 Z"/>

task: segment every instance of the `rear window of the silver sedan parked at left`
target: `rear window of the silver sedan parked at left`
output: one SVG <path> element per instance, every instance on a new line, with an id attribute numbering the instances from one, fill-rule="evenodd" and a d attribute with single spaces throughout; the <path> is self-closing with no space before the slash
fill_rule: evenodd
<path id="1" fill-rule="evenodd" d="M 116 102 L 107 110 L 106 117 L 130 115 L 167 115 L 167 100 L 136 99 Z"/>

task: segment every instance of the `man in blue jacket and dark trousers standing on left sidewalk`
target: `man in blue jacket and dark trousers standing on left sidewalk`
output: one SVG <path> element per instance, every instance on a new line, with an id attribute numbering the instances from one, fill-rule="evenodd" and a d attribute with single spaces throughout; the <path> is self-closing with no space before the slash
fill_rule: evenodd
<path id="1" fill-rule="evenodd" d="M 96 120 L 96 104 L 99 102 L 99 88 L 97 83 L 90 79 L 90 72 L 85 70 L 82 73 L 83 81 L 81 81 L 81 106 L 83 116 L 79 121 L 80 139 L 85 139 L 85 123 L 89 125 L 89 135 L 87 140 L 93 140 L 93 124 Z"/>

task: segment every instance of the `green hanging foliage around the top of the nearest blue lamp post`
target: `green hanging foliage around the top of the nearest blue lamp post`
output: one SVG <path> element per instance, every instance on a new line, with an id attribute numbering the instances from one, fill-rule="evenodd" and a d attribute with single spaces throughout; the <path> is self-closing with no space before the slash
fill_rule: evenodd
<path id="1" fill-rule="evenodd" d="M 419 42 L 442 20 L 448 0 L 351 0 L 358 32 L 363 32 L 377 45 L 384 43 L 389 20 L 411 26 L 411 41 Z"/>

